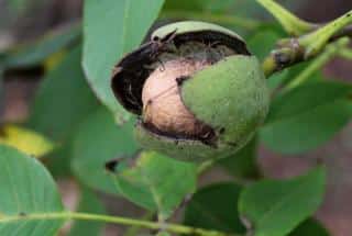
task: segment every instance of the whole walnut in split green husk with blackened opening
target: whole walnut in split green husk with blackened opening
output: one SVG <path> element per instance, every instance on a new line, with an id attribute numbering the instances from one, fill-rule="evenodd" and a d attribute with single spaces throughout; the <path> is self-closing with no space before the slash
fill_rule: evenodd
<path id="1" fill-rule="evenodd" d="M 112 89 L 140 116 L 147 149 L 187 161 L 234 154 L 263 123 L 270 91 L 256 57 L 235 33 L 205 22 L 178 22 L 116 67 Z"/>

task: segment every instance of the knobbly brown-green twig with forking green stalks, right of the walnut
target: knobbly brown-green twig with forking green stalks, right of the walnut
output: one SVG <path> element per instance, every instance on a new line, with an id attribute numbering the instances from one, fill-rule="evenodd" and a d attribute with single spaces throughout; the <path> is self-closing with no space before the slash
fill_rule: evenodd
<path id="1" fill-rule="evenodd" d="M 345 36 L 352 36 L 352 25 L 349 25 L 352 24 L 352 10 L 337 20 L 321 25 L 300 20 L 273 0 L 256 1 L 270 11 L 288 33 L 298 36 L 279 41 L 277 47 L 264 58 L 262 67 L 266 77 L 317 57 L 328 44 Z M 349 57 L 348 53 L 341 55 Z M 328 54 L 318 58 L 317 64 L 311 65 L 311 70 L 315 70 L 317 65 L 323 64 L 328 58 L 330 58 Z M 299 79 L 305 80 L 305 78 L 306 76 Z"/>

